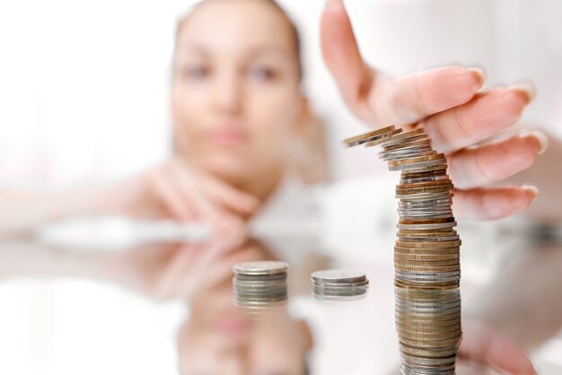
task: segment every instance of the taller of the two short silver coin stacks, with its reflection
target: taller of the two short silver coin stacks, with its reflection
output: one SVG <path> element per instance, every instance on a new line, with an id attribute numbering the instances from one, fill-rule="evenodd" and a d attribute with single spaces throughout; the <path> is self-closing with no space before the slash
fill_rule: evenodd
<path id="1" fill-rule="evenodd" d="M 234 265 L 234 306 L 241 310 L 260 310 L 285 305 L 287 269 L 285 262 L 277 261 Z"/>

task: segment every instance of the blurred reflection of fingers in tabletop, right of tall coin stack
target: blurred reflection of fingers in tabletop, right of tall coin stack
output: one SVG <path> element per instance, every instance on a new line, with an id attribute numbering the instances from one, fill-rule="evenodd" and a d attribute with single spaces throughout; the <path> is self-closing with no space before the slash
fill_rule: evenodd
<path id="1" fill-rule="evenodd" d="M 479 323 L 471 323 L 464 332 L 461 358 L 486 364 L 500 373 L 536 374 L 527 354 L 512 340 Z"/>

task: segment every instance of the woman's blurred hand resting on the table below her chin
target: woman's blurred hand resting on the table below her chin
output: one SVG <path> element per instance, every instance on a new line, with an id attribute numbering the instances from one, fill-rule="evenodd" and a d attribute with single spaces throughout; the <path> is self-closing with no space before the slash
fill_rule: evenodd
<path id="1" fill-rule="evenodd" d="M 171 160 L 118 187 L 120 213 L 143 218 L 204 221 L 219 231 L 236 231 L 241 217 L 258 205 L 253 196 L 183 161 Z"/>

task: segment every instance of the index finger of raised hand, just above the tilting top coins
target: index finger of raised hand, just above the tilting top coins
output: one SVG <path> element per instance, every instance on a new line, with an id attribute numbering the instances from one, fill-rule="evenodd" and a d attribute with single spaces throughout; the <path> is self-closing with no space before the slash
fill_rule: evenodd
<path id="1" fill-rule="evenodd" d="M 445 66 L 376 87 L 370 108 L 379 124 L 405 126 L 467 103 L 484 85 L 479 69 Z"/>

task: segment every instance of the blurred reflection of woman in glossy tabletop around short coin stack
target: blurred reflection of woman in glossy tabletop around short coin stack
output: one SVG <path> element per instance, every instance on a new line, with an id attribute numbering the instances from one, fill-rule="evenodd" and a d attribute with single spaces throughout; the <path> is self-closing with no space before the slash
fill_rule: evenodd
<path id="1" fill-rule="evenodd" d="M 198 277 L 189 298 L 189 319 L 178 336 L 182 373 L 303 374 L 312 346 L 303 320 L 291 318 L 286 309 L 254 315 L 233 306 L 232 266 L 275 256 L 254 240 L 235 249 L 219 245 L 201 250 L 222 256 L 200 264 L 206 272 Z"/>

